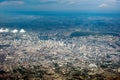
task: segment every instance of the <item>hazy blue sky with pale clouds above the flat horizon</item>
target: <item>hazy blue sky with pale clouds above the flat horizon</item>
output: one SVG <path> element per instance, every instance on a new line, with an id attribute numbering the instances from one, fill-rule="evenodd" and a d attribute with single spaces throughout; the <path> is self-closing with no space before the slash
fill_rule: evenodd
<path id="1" fill-rule="evenodd" d="M 71 11 L 120 13 L 120 0 L 0 0 L 0 13 L 7 11 Z"/>

